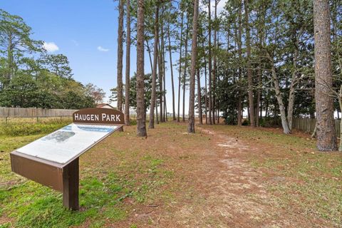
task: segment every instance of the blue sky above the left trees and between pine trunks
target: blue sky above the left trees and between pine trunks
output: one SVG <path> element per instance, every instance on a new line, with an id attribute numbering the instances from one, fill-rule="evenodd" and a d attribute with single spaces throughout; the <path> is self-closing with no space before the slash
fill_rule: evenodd
<path id="1" fill-rule="evenodd" d="M 110 95 L 110 88 L 117 84 L 117 6 L 118 1 L 113 0 L 1 0 L 0 2 L 1 9 L 21 16 L 26 24 L 31 26 L 33 38 L 45 41 L 51 50 L 50 53 L 62 53 L 68 57 L 73 69 L 73 77 L 77 81 L 81 81 L 83 84 L 93 83 L 103 88 L 107 96 Z M 223 4 L 219 8 L 222 9 Z M 56 50 L 57 48 L 58 50 Z M 172 55 L 173 63 L 177 62 L 178 55 L 178 53 Z M 169 61 L 168 55 L 165 57 L 166 61 Z M 136 69 L 135 46 L 131 47 L 130 63 L 130 75 L 132 76 Z M 125 63 L 123 72 L 125 73 Z M 145 52 L 145 73 L 150 72 L 150 60 Z M 174 68 L 174 73 L 177 103 L 178 73 L 176 68 Z M 170 77 L 170 63 L 167 63 L 168 112 L 172 112 Z M 204 81 L 201 83 L 204 86 Z M 186 113 L 188 99 L 186 96 Z M 107 102 L 108 98 L 105 98 L 104 101 Z M 182 104 L 180 107 L 182 113 Z"/>

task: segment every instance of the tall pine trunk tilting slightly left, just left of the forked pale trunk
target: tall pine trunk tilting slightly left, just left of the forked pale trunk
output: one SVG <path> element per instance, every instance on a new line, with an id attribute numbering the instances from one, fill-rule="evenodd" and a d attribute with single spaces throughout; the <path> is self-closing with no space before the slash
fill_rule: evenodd
<path id="1" fill-rule="evenodd" d="M 248 78 L 248 101 L 249 101 L 249 120 L 251 127 L 254 123 L 254 95 L 253 95 L 253 78 L 251 66 L 251 37 L 249 34 L 249 2 L 244 0 L 244 20 L 246 29 L 246 53 L 247 53 L 247 78 Z"/>

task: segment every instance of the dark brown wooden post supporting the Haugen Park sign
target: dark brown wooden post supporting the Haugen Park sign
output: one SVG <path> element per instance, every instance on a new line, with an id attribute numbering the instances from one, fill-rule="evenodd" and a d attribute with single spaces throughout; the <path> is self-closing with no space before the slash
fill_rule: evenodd
<path id="1" fill-rule="evenodd" d="M 78 157 L 63 168 L 63 206 L 78 210 Z"/>

